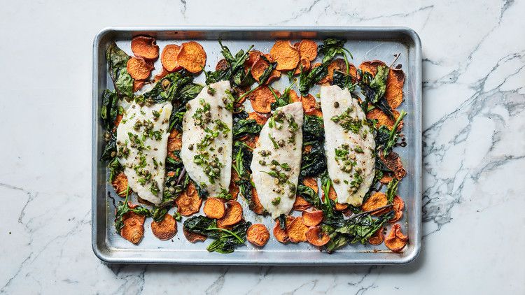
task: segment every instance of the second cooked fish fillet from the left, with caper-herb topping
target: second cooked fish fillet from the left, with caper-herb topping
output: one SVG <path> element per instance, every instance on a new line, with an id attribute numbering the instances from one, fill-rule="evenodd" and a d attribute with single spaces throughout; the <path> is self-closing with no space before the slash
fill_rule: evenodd
<path id="1" fill-rule="evenodd" d="M 232 111 L 226 108 L 230 82 L 204 87 L 188 102 L 182 122 L 181 159 L 190 178 L 216 197 L 228 190 L 232 169 Z"/>

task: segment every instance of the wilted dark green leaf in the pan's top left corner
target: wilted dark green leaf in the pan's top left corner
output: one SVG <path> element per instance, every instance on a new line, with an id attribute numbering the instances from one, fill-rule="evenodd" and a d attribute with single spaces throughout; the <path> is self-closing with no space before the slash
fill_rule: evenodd
<path id="1" fill-rule="evenodd" d="M 106 61 L 109 67 L 109 75 L 113 81 L 116 94 L 119 99 L 130 101 L 133 99 L 133 78 L 127 73 L 127 60 L 130 57 L 112 42 L 106 50 Z"/>

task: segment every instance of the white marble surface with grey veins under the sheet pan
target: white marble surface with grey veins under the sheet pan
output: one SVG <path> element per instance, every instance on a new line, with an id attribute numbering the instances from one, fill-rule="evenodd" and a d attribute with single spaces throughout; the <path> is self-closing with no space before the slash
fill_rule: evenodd
<path id="1" fill-rule="evenodd" d="M 3 1 L 0 293 L 524 294 L 525 1 Z M 91 54 L 115 25 L 400 25 L 423 44 L 423 250 L 407 266 L 107 266 Z"/>

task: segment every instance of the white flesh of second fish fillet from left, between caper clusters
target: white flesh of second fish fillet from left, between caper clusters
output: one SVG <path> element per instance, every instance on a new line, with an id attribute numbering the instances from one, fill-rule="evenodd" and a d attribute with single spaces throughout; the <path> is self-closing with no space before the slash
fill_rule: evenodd
<path id="1" fill-rule="evenodd" d="M 209 92 L 211 87 L 215 90 Z M 228 190 L 230 186 L 231 169 L 232 169 L 232 129 L 233 117 L 232 112 L 226 109 L 223 98 L 227 96 L 226 91 L 230 91 L 230 82 L 221 81 L 204 87 L 195 99 L 189 102 L 190 108 L 186 111 L 182 123 L 182 149 L 181 159 L 190 178 L 207 190 L 209 196 L 216 197 L 223 190 Z M 198 109 L 203 109 L 202 102 L 209 104 L 210 122 L 203 127 L 197 124 L 193 116 Z M 216 129 L 216 120 L 220 120 L 228 127 L 229 131 L 219 132 L 218 136 L 207 145 L 203 150 L 199 150 L 197 145 L 207 136 L 206 128 L 211 131 Z M 191 149 L 191 150 L 190 150 Z M 195 157 L 199 157 L 202 152 L 208 153 L 208 161 L 216 161 L 220 169 L 217 178 L 210 180 L 209 174 L 205 172 L 207 164 L 195 163 Z M 213 182 L 213 183 L 212 183 Z"/>

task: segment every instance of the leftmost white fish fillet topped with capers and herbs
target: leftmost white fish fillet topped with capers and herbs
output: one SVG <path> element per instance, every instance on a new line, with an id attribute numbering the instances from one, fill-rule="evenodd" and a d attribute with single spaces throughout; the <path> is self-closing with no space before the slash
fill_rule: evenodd
<path id="1" fill-rule="evenodd" d="M 155 120 L 153 112 L 158 112 L 159 117 Z M 125 168 L 124 173 L 127 176 L 130 188 L 137 192 L 141 199 L 158 204 L 162 201 L 162 192 L 164 192 L 165 181 L 165 161 L 167 154 L 167 141 L 169 137 L 169 116 L 172 115 L 172 103 L 157 103 L 153 106 L 139 106 L 137 103 L 131 103 L 123 115 L 123 120 L 117 127 L 117 149 L 120 151 L 123 147 L 129 149 L 127 157 L 118 158 L 120 164 Z M 137 121 L 144 120 L 153 123 L 152 132 L 157 132 L 155 136 L 143 137 L 145 133 L 144 126 L 135 129 Z M 130 136 L 131 134 L 131 136 Z M 153 133 L 151 133 L 153 134 Z M 132 137 L 138 136 L 139 140 L 144 138 L 144 149 L 141 145 L 132 147 Z M 151 177 L 144 175 L 148 171 Z M 155 192 L 152 185 L 157 185 L 158 192 Z"/>

